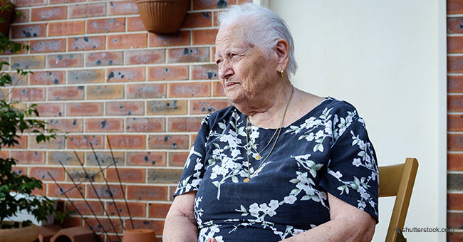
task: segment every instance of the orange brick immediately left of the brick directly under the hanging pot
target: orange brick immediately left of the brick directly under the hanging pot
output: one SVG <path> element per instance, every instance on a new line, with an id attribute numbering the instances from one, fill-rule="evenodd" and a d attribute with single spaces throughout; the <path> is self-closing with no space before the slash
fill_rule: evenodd
<path id="1" fill-rule="evenodd" d="M 129 33 L 108 36 L 109 49 L 145 48 L 146 46 L 146 33 Z"/>

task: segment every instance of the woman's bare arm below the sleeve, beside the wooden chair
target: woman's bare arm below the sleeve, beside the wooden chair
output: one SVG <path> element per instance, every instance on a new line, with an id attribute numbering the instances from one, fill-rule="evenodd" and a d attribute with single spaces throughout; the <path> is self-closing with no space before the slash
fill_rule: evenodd
<path id="1" fill-rule="evenodd" d="M 376 221 L 370 214 L 328 193 L 331 221 L 323 223 L 284 242 L 371 241 Z"/>

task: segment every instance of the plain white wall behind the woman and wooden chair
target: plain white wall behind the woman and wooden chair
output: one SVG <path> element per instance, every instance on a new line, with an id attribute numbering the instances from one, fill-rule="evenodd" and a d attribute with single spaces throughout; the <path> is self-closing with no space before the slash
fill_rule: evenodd
<path id="1" fill-rule="evenodd" d="M 270 0 L 296 42 L 296 87 L 348 100 L 367 122 L 380 165 L 420 162 L 405 226 L 446 227 L 444 0 Z M 380 199 L 384 241 L 392 199 Z M 405 233 L 444 241 L 445 233 Z"/>

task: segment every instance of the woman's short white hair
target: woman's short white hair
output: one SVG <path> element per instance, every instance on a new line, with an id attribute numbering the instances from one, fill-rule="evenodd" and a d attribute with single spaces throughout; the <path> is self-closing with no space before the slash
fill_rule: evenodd
<path id="1" fill-rule="evenodd" d="M 286 22 L 273 11 L 256 4 L 234 5 L 217 16 L 219 29 L 241 24 L 244 38 L 254 46 L 270 51 L 283 38 L 289 44 L 288 77 L 296 73 L 294 41 Z"/>

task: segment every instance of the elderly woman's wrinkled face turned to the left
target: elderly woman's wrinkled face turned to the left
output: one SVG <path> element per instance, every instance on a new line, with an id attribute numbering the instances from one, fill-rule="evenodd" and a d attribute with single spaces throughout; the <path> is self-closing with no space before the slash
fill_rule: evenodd
<path id="1" fill-rule="evenodd" d="M 227 98 L 234 105 L 253 105 L 269 97 L 276 87 L 278 56 L 251 46 L 243 38 L 241 26 L 222 28 L 217 33 L 215 61 Z"/>

